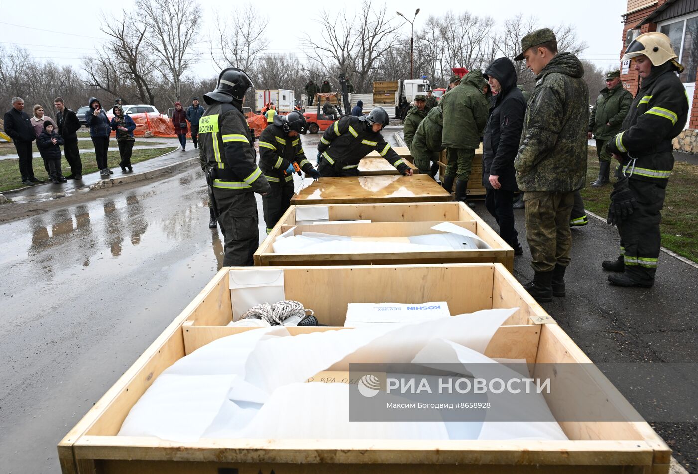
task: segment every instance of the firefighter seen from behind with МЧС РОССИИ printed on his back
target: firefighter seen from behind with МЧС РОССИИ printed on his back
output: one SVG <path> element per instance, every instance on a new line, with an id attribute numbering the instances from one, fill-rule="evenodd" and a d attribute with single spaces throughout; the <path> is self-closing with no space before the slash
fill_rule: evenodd
<path id="1" fill-rule="evenodd" d="M 254 138 L 242 114 L 245 93 L 253 87 L 248 75 L 226 68 L 216 90 L 205 94 L 209 105 L 199 122 L 199 153 L 208 163 L 209 191 L 223 231 L 223 265 L 251 266 L 259 246 L 257 200 L 269 183 L 257 166 Z"/>

